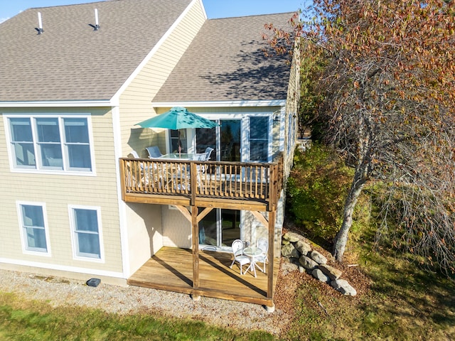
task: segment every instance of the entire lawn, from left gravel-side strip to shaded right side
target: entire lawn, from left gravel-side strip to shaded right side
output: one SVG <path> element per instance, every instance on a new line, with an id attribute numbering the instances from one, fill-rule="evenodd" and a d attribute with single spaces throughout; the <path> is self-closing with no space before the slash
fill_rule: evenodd
<path id="1" fill-rule="evenodd" d="M 159 315 L 53 308 L 0 293 L 0 340 L 455 340 L 454 281 L 391 249 L 375 251 L 371 234 L 348 246 L 367 290 L 343 296 L 308 276 L 297 289 L 296 318 L 280 338 Z"/>

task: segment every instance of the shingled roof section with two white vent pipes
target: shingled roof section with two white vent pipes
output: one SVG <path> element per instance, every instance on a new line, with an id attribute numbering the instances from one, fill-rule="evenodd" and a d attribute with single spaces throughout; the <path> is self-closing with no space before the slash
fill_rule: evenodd
<path id="1" fill-rule="evenodd" d="M 19 13 L 0 24 L 0 102 L 111 99 L 190 3 L 115 0 Z M 90 26 L 95 9 L 99 31 Z"/>

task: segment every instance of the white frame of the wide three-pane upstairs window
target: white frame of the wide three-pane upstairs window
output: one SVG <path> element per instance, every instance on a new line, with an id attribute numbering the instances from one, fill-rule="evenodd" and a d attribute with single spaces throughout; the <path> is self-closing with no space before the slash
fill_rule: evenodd
<path id="1" fill-rule="evenodd" d="M 16 166 L 16 152 L 12 146 L 12 132 L 10 126 L 10 119 L 30 119 L 31 120 L 31 130 L 33 136 L 33 150 L 35 153 L 36 166 L 35 167 L 18 167 Z M 41 154 L 38 148 L 40 142 L 38 142 L 38 133 L 37 133 L 37 124 L 36 119 L 58 119 L 58 128 L 60 132 L 60 146 L 63 147 L 62 158 L 63 158 L 63 169 L 53 168 L 52 166 L 42 166 L 41 165 Z M 88 130 L 88 139 L 89 139 L 89 148 L 90 148 L 90 163 L 91 170 L 86 171 L 84 169 L 75 170 L 69 169 L 68 161 L 68 148 L 65 146 L 68 142 L 65 140 L 64 136 L 64 119 L 86 119 L 87 120 L 87 130 Z M 49 174 L 62 174 L 62 175 L 89 175 L 95 176 L 95 145 L 93 141 L 92 133 L 92 117 L 90 114 L 4 114 L 4 126 L 6 129 L 6 139 L 7 139 L 7 148 L 9 153 L 9 164 L 11 172 L 13 173 L 49 173 Z"/>

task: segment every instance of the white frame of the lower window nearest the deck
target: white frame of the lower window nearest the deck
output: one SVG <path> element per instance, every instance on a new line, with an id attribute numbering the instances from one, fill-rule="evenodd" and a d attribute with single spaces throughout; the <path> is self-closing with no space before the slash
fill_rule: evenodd
<path id="1" fill-rule="evenodd" d="M 80 254 L 79 243 L 77 242 L 77 230 L 75 221 L 75 210 L 92 210 L 97 212 L 97 224 L 98 224 L 98 240 L 100 241 L 100 258 L 85 256 Z M 101 223 L 101 207 L 97 206 L 84 206 L 84 205 L 68 205 L 68 213 L 70 216 L 70 228 L 71 228 L 71 243 L 73 246 L 73 259 L 83 261 L 94 261 L 97 263 L 105 262 L 105 249 L 102 238 L 102 223 Z"/>

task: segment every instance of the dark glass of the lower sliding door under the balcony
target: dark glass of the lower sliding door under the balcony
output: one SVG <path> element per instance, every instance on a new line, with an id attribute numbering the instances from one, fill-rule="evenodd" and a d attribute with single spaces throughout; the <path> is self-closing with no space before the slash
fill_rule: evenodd
<path id="1" fill-rule="evenodd" d="M 199 222 L 199 244 L 230 247 L 235 239 L 241 239 L 240 226 L 240 211 L 213 209 Z"/>

